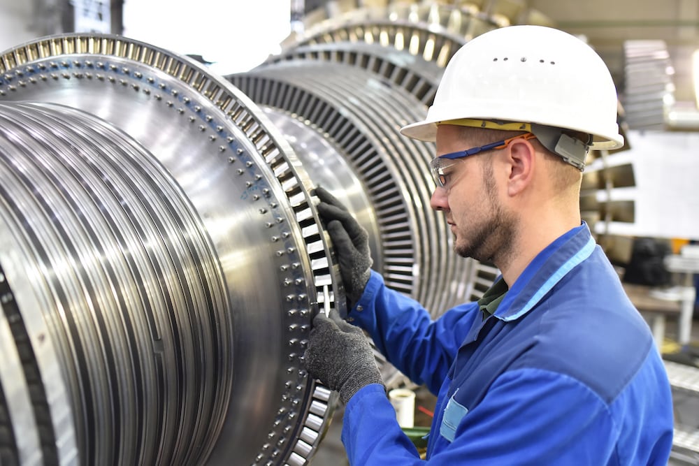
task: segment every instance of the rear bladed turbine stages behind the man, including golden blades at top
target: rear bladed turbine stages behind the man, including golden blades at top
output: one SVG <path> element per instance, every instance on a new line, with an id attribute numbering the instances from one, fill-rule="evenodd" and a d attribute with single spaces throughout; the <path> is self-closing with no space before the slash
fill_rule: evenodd
<path id="1" fill-rule="evenodd" d="M 326 159 L 345 159 L 355 167 L 349 176 L 366 187 L 379 250 L 393 254 L 382 257 L 384 268 L 377 270 L 389 287 L 438 316 L 482 296 L 487 287 L 477 277 L 489 266 L 454 254 L 442 215 L 428 205 L 434 186 L 424 168 L 435 147 L 396 138 L 397 130 L 424 117 L 442 68 L 461 45 L 506 24 L 474 6 L 433 2 L 388 2 L 334 13 L 320 19 L 312 13 L 280 54 L 227 78 L 260 105 L 308 122 L 306 128 L 336 141 L 336 154 Z M 367 165 L 371 170 L 362 173 Z M 315 177 L 314 168 L 308 170 Z M 384 174 L 390 176 L 381 178 Z M 391 205 L 382 210 L 386 199 Z M 353 213 L 363 217 L 361 209 Z M 393 227 L 388 232 L 387 225 Z"/>

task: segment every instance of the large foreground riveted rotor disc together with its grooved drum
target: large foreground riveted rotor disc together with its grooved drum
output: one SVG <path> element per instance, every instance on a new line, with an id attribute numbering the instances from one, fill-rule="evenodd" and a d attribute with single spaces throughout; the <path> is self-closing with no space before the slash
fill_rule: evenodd
<path id="1" fill-rule="evenodd" d="M 299 358 L 341 291 L 291 147 L 238 89 L 147 44 L 69 34 L 1 64 L 0 265 L 57 387 L 40 438 L 22 422 L 41 400 L 10 412 L 18 453 L 305 464 L 334 395 Z M 10 367 L 8 403 L 27 392 Z"/>

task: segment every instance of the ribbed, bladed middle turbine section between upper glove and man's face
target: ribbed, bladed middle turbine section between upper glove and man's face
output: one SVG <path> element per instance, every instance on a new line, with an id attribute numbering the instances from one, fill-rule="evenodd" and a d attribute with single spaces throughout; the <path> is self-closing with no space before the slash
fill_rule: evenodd
<path id="1" fill-rule="evenodd" d="M 307 123 L 295 126 L 287 139 L 317 131 L 333 142 L 336 150 L 324 154 L 325 163 L 342 161 L 351 168 L 343 178 L 357 189 L 339 189 L 331 180 L 328 186 L 347 196 L 350 207 L 359 205 L 353 211 L 356 217 L 367 219 L 367 230 L 377 232 L 380 256 L 375 256 L 375 269 L 387 286 L 433 312 L 466 299 L 468 290 L 459 283 L 473 261 L 452 252 L 441 212 L 428 205 L 434 186 L 426 166 L 434 156 L 433 144 L 397 131 L 404 122 L 421 118 L 423 103 L 401 87 L 384 85 L 374 73 L 315 59 L 276 61 L 228 78 L 271 112 Z M 319 166 L 307 167 L 314 179 Z M 355 195 L 366 200 L 353 201 Z"/>

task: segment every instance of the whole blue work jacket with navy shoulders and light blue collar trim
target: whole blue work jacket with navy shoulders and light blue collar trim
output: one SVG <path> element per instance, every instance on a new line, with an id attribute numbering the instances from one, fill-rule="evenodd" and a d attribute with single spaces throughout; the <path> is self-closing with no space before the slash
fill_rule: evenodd
<path id="1" fill-rule="evenodd" d="M 589 228 L 544 249 L 485 321 L 477 303 L 432 321 L 372 272 L 348 320 L 437 395 L 431 465 L 658 465 L 672 447 L 672 397 L 642 316 Z M 354 465 L 417 465 L 378 384 L 345 407 Z"/>

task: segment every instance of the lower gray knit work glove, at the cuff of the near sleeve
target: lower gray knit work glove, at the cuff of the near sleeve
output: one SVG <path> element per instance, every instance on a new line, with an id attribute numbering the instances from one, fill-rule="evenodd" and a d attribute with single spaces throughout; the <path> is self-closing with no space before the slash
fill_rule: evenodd
<path id="1" fill-rule="evenodd" d="M 361 328 L 319 312 L 313 319 L 303 360 L 308 372 L 340 393 L 345 405 L 354 393 L 369 384 L 383 384 L 374 352 Z"/>

